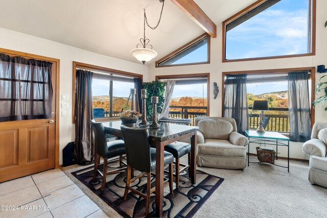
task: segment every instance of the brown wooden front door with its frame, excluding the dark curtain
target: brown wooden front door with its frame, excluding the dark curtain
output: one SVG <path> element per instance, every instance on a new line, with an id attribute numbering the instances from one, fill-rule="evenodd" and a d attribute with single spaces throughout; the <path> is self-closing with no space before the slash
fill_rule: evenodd
<path id="1" fill-rule="evenodd" d="M 0 52 L 53 62 L 52 118 L 0 122 L 0 182 L 4 182 L 55 168 L 59 60 L 3 49 Z"/>

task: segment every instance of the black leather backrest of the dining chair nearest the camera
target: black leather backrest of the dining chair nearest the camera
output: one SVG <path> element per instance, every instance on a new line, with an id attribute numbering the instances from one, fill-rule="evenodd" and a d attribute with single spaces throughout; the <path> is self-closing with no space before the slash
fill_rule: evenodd
<path id="1" fill-rule="evenodd" d="M 138 171 L 150 172 L 151 153 L 149 130 L 121 126 L 124 135 L 127 164 Z"/>

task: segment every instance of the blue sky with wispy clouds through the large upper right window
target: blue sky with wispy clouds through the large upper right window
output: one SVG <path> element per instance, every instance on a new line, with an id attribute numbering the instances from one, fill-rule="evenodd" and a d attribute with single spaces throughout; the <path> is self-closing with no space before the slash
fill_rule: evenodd
<path id="1" fill-rule="evenodd" d="M 308 53 L 308 0 L 282 0 L 226 34 L 226 59 Z"/>

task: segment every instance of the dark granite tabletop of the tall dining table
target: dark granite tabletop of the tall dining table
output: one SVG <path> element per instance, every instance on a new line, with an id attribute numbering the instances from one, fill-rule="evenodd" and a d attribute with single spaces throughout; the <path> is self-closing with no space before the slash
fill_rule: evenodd
<path id="1" fill-rule="evenodd" d="M 120 137 L 123 136 L 121 130 L 121 125 L 122 125 L 121 120 L 101 122 L 101 123 L 103 124 L 106 133 L 113 134 Z M 145 128 L 145 127 L 139 127 L 138 124 L 125 124 L 125 125 L 133 128 Z M 199 127 L 169 124 L 169 123 L 159 123 L 158 129 L 151 129 L 151 128 L 148 129 L 149 129 L 150 139 L 156 141 L 166 141 L 181 135 L 194 132 L 198 130 Z"/>

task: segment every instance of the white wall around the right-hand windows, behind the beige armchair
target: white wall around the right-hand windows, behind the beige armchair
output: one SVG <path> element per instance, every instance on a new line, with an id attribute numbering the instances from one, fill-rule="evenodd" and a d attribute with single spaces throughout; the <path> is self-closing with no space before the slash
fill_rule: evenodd
<path id="1" fill-rule="evenodd" d="M 324 22 L 327 20 L 327 1 L 317 0 L 317 20 L 316 20 L 316 55 L 297 58 L 281 58 L 270 60 L 258 61 L 240 61 L 222 63 L 222 23 L 217 25 L 217 38 L 211 38 L 211 63 L 190 65 L 190 66 L 176 66 L 176 67 L 159 67 L 155 68 L 152 64 L 149 66 L 149 80 L 155 79 L 158 75 L 176 75 L 176 74 L 197 74 L 197 73 L 210 73 L 210 115 L 222 115 L 222 72 L 224 71 L 240 71 L 240 70 L 259 70 L 259 69 L 277 69 L 277 68 L 294 68 L 294 67 L 313 67 L 317 65 L 327 66 L 327 28 L 324 28 Z M 227 18 L 227 17 L 226 17 Z M 221 20 L 223 21 L 223 20 Z M 269 28 L 269 27 L 268 27 Z M 316 83 L 322 75 L 316 74 Z M 213 95 L 213 82 L 217 82 L 220 92 L 217 99 Z M 327 123 L 327 112 L 325 112 L 321 105 L 315 109 L 316 122 Z M 301 151 L 302 143 L 291 142 L 290 157 L 292 158 L 305 158 Z M 251 146 L 250 152 L 255 152 L 255 146 Z M 287 157 L 287 149 L 279 147 L 278 152 L 280 156 Z"/>

